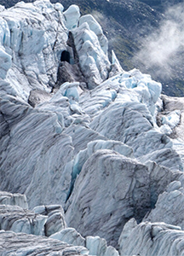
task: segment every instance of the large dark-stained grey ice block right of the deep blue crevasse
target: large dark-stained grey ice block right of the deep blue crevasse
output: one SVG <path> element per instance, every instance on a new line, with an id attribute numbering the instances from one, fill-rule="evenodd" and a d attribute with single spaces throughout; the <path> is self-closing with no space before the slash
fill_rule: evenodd
<path id="1" fill-rule="evenodd" d="M 147 178 L 147 167 L 135 160 L 109 149 L 96 151 L 85 162 L 76 180 L 67 202 L 66 223 L 82 236 L 98 235 L 116 245 L 125 219 L 135 212 L 137 218 L 141 218 L 149 207 Z M 129 193 L 135 195 L 134 201 Z M 101 207 L 101 200 L 104 207 Z M 107 229 L 112 231 L 104 233 Z"/>

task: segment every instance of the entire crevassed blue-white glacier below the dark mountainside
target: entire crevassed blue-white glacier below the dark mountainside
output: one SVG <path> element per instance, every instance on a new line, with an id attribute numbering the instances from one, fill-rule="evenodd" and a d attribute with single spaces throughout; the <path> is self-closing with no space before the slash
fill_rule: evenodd
<path id="1" fill-rule="evenodd" d="M 75 4 L 0 24 L 0 254 L 183 255 L 183 98 Z"/>

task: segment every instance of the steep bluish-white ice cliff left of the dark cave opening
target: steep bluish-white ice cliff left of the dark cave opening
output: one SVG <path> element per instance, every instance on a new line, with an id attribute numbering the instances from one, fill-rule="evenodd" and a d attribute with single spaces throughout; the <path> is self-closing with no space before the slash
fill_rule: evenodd
<path id="1" fill-rule="evenodd" d="M 67 40 L 62 9 L 49 1 L 20 2 L 0 13 L 2 48 L 11 61 L 3 79 L 6 77 L 10 84 L 10 94 L 14 91 L 26 100 L 30 90 L 49 91 L 49 84 L 55 84 L 60 53 L 66 49 Z"/>

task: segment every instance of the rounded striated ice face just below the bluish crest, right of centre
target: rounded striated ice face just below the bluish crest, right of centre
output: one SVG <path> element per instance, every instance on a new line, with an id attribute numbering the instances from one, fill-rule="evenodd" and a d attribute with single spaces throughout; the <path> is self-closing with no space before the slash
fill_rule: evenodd
<path id="1" fill-rule="evenodd" d="M 109 139 L 127 143 L 131 137 L 152 130 L 152 116 L 143 104 L 115 101 L 93 119 L 90 128 Z"/>

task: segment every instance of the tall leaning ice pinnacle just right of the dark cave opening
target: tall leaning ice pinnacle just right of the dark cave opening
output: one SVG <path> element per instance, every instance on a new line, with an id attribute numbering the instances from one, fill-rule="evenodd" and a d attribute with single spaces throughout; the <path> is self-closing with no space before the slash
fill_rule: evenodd
<path id="1" fill-rule="evenodd" d="M 89 89 L 108 77 L 110 62 L 101 49 L 95 32 L 91 31 L 87 22 L 72 31 L 79 64 L 84 77 L 87 79 Z"/>

